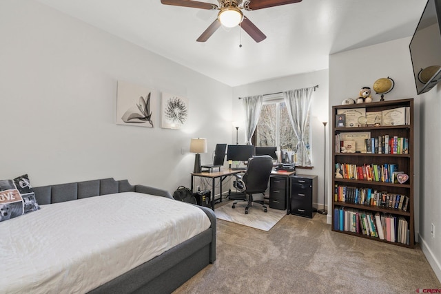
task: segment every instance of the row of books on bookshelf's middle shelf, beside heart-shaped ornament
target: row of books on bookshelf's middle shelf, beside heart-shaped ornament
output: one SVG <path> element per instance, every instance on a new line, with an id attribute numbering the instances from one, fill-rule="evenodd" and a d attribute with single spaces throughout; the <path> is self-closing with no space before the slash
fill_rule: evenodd
<path id="1" fill-rule="evenodd" d="M 404 174 L 404 171 L 398 171 L 398 165 L 396 163 L 384 163 L 384 165 L 377 165 L 376 163 L 365 163 L 364 165 L 336 163 L 335 177 L 349 180 L 398 183 L 398 174 Z"/>

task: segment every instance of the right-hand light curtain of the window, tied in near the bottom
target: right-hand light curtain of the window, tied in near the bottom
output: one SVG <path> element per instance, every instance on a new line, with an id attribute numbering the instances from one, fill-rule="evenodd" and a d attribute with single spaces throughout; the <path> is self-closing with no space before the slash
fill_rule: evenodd
<path id="1" fill-rule="evenodd" d="M 287 105 L 289 120 L 294 128 L 294 134 L 296 134 L 297 143 L 297 164 L 302 167 L 311 165 L 311 158 L 307 152 L 305 145 L 305 130 L 309 121 L 309 113 L 311 109 L 311 94 L 314 91 L 314 87 L 308 87 L 297 90 L 289 90 L 283 92 L 283 98 Z"/>

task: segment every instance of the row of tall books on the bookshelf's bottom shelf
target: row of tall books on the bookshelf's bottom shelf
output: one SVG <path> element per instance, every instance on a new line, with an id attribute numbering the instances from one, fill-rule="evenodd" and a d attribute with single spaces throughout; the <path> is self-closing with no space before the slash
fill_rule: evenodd
<path id="1" fill-rule="evenodd" d="M 333 218 L 335 231 L 359 233 L 380 240 L 409 245 L 409 222 L 403 216 L 336 207 Z"/>

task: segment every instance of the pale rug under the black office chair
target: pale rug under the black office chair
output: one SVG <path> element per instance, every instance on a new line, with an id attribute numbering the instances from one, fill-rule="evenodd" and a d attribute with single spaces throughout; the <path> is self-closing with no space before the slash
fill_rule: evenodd
<path id="1" fill-rule="evenodd" d="M 233 202 L 229 202 L 222 207 L 216 208 L 214 214 L 220 220 L 227 220 L 227 222 L 235 222 L 236 224 L 243 224 L 247 227 L 260 229 L 262 231 L 269 231 L 279 220 L 286 216 L 286 210 L 278 210 L 269 208 L 264 212 L 260 204 L 253 204 L 253 207 L 248 209 L 248 214 L 245 214 L 245 207 L 247 202 L 239 202 L 236 208 L 232 208 Z"/>

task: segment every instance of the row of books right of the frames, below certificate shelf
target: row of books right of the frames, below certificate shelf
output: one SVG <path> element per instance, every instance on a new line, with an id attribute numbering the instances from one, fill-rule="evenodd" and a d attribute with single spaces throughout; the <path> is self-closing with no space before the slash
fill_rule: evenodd
<path id="1" fill-rule="evenodd" d="M 409 138 L 378 136 L 365 139 L 366 152 L 372 154 L 409 154 Z"/>

